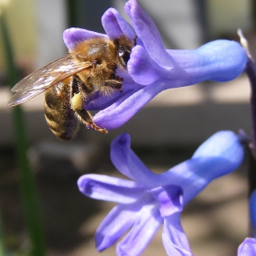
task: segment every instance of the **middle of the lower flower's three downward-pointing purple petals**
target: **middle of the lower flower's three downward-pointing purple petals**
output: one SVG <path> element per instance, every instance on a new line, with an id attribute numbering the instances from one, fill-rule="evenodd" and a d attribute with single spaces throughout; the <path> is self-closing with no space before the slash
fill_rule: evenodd
<path id="1" fill-rule="evenodd" d="M 163 223 L 158 208 L 144 206 L 143 218 L 136 219 L 133 228 L 116 246 L 116 254 L 119 256 L 140 255 L 155 236 L 155 232 Z"/>

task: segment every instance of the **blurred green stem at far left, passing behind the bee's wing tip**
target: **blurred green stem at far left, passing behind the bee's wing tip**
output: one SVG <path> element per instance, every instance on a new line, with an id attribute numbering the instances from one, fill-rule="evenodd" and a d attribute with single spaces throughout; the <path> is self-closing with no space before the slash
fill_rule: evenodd
<path id="1" fill-rule="evenodd" d="M 6 71 L 9 84 L 13 87 L 19 80 L 19 76 L 14 62 L 14 54 L 5 23 L 5 16 L 3 15 L 0 16 L 0 26 L 5 49 Z M 20 171 L 21 195 L 29 238 L 32 244 L 31 255 L 44 256 L 46 255 L 46 247 L 37 197 L 37 187 L 27 159 L 26 128 L 24 123 L 24 113 L 20 106 L 13 108 L 13 118 L 16 137 L 17 162 Z"/>

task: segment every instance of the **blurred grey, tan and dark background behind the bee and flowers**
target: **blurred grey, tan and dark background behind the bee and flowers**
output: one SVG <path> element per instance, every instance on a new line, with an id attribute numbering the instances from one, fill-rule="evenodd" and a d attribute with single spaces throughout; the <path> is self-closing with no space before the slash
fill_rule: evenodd
<path id="1" fill-rule="evenodd" d="M 62 40 L 68 27 L 104 33 L 101 16 L 115 7 L 123 16 L 123 0 L 0 0 L 23 76 L 67 53 Z M 256 56 L 256 4 L 253 0 L 138 0 L 152 16 L 166 48 L 197 48 L 217 38 L 239 40 L 241 28 Z M 1 13 L 0 9 L 0 13 Z M 1 15 L 1 14 L 0 14 Z M 27 229 L 18 186 L 11 93 L 5 72 L 0 35 L 0 204 L 6 244 L 16 255 L 27 255 Z M 80 195 L 79 176 L 101 173 L 118 176 L 109 159 L 109 146 L 120 133 L 130 133 L 134 152 L 155 172 L 189 158 L 197 145 L 219 130 L 251 134 L 250 87 L 244 74 L 227 83 L 206 81 L 164 91 L 133 119 L 107 135 L 81 127 L 70 143 L 49 131 L 44 95 L 22 105 L 25 112 L 28 158 L 37 179 L 48 255 L 98 255 L 93 233 L 112 204 Z M 154 121 L 152 117 L 154 116 Z M 247 235 L 245 165 L 213 182 L 185 210 L 184 229 L 195 255 L 236 255 Z M 144 255 L 165 255 L 161 231 Z M 113 255 L 114 248 L 101 255 Z"/>

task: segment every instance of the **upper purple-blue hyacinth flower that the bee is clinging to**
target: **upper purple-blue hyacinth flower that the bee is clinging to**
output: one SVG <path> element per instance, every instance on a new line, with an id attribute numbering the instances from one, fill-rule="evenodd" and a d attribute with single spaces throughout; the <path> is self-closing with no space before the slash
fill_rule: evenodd
<path id="1" fill-rule="evenodd" d="M 81 28 L 69 28 L 63 35 L 69 49 L 91 37 L 137 37 L 127 71 L 118 71 L 124 79 L 123 93 L 112 97 L 95 93 L 87 101 L 88 110 L 101 110 L 93 119 L 100 127 L 111 130 L 121 126 L 161 91 L 204 80 L 233 80 L 246 65 L 244 49 L 229 40 L 212 41 L 195 50 L 165 50 L 154 21 L 135 0 L 127 1 L 124 10 L 132 25 L 110 8 L 101 19 L 106 35 Z"/>

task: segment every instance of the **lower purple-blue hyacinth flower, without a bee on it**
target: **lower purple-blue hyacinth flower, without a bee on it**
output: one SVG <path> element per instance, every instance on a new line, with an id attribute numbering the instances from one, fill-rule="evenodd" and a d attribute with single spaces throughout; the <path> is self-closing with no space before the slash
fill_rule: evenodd
<path id="1" fill-rule="evenodd" d="M 78 181 L 85 196 L 118 203 L 96 231 L 97 250 L 112 246 L 129 230 L 117 244 L 116 253 L 140 255 L 163 224 L 167 254 L 192 255 L 180 212 L 211 180 L 229 174 L 241 164 L 244 149 L 240 140 L 240 135 L 229 131 L 215 133 L 191 159 L 157 175 L 133 153 L 127 133 L 114 139 L 112 163 L 132 180 L 91 174 Z"/>

